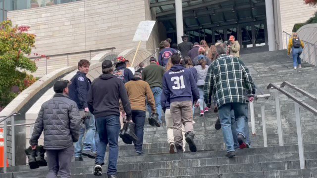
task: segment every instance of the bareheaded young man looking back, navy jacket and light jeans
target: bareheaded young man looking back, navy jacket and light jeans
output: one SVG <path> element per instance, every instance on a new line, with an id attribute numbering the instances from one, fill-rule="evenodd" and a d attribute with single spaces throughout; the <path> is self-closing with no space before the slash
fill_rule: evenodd
<path id="1" fill-rule="evenodd" d="M 69 97 L 77 103 L 80 118 L 84 119 L 85 129 L 81 130 L 79 140 L 75 143 L 75 161 L 83 161 L 82 155 L 89 158 L 96 158 L 96 144 L 98 141 L 95 126 L 95 117 L 89 112 L 87 104 L 87 93 L 91 86 L 91 81 L 86 77 L 89 72 L 89 61 L 82 59 L 78 62 L 78 72 L 70 80 Z M 83 144 L 83 138 L 84 144 Z"/>

